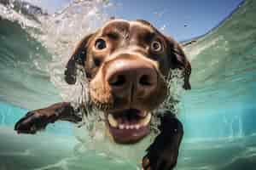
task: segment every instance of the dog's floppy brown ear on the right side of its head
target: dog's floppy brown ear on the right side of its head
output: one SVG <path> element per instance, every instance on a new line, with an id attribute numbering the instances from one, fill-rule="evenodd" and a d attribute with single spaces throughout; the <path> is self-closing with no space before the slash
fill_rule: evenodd
<path id="1" fill-rule="evenodd" d="M 172 39 L 172 37 L 166 37 L 168 53 L 171 55 L 171 67 L 172 69 L 179 68 L 183 70 L 184 77 L 184 89 L 191 89 L 189 77 L 191 74 L 191 65 L 189 59 L 183 52 L 181 45 Z"/>

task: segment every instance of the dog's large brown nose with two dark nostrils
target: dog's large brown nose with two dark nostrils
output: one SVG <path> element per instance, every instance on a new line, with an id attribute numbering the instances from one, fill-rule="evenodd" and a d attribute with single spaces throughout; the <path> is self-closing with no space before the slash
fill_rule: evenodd
<path id="1" fill-rule="evenodd" d="M 106 79 L 112 93 L 120 98 L 143 98 L 157 87 L 154 65 L 143 59 L 114 59 L 108 65 Z"/>

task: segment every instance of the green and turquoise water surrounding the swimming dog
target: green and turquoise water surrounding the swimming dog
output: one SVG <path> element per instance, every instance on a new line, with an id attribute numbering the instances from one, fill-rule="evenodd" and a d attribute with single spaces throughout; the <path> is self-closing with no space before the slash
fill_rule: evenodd
<path id="1" fill-rule="evenodd" d="M 0 4 L 1 170 L 137 169 L 140 160 L 130 153 L 123 159 L 84 147 L 67 122 L 34 136 L 13 131 L 27 110 L 70 99 L 77 90 L 63 82 L 63 65 L 75 42 L 108 20 L 105 8 L 111 4 L 77 1 L 55 16 L 29 17 Z M 192 90 L 179 115 L 185 136 L 177 169 L 255 169 L 255 16 L 256 2 L 248 0 L 185 48 Z"/>

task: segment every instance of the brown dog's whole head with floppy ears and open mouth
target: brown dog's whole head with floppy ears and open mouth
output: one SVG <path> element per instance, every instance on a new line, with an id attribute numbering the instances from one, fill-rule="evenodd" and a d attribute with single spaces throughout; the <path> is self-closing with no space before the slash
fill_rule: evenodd
<path id="1" fill-rule="evenodd" d="M 116 143 L 136 143 L 149 133 L 151 114 L 167 97 L 172 70 L 183 71 L 190 89 L 191 67 L 181 46 L 145 20 L 110 20 L 79 42 L 65 80 L 76 82 L 77 67 L 89 81 L 90 103 L 104 112 Z"/>

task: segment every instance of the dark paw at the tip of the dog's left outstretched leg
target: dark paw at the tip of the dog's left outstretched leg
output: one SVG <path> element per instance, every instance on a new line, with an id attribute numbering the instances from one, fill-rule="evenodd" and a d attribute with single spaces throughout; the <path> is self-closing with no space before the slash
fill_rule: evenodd
<path id="1" fill-rule="evenodd" d="M 53 116 L 47 116 L 38 111 L 30 111 L 20 121 L 16 122 L 15 131 L 17 133 L 34 134 L 39 130 L 43 130 L 49 122 L 54 122 L 54 119 Z"/>

